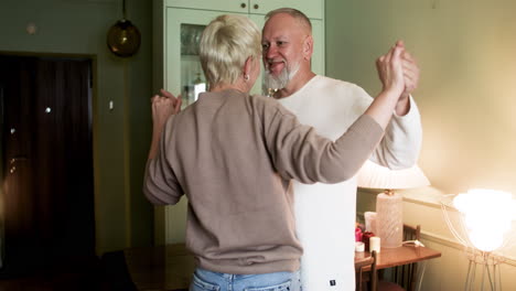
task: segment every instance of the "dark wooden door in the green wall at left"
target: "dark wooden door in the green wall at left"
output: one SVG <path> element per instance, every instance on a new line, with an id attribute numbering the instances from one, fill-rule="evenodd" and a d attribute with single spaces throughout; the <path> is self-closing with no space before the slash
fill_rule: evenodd
<path id="1" fill-rule="evenodd" d="M 90 69 L 0 55 L 4 270 L 95 254 Z"/>

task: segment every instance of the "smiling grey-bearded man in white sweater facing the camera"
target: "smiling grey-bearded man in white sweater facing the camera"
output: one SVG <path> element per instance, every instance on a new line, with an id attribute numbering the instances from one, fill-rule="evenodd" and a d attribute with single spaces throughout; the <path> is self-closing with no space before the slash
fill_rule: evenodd
<path id="1" fill-rule="evenodd" d="M 261 44 L 266 86 L 276 89 L 273 97 L 301 123 L 312 126 L 319 134 L 336 139 L 373 98 L 354 84 L 311 71 L 311 23 L 302 12 L 278 9 L 269 12 L 266 20 Z M 404 43 L 397 42 L 396 46 L 404 47 Z M 407 52 L 402 62 L 405 91 L 383 141 L 369 159 L 391 169 L 416 163 L 422 136 L 419 111 L 410 97 L 418 84 L 419 68 Z M 297 234 L 304 249 L 301 259 L 303 289 L 354 290 L 356 177 L 331 185 L 292 183 Z"/>

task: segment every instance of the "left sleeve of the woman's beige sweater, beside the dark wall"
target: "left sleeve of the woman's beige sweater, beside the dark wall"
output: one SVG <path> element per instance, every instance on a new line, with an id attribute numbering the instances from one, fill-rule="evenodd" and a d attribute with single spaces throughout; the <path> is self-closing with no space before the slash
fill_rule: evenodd
<path id="1" fill-rule="evenodd" d="M 147 161 L 143 180 L 143 193 L 146 197 L 157 205 L 176 204 L 183 195 L 183 190 L 168 161 L 165 149 L 170 139 L 170 127 L 173 118 L 169 119 L 160 138 L 158 154 Z"/>

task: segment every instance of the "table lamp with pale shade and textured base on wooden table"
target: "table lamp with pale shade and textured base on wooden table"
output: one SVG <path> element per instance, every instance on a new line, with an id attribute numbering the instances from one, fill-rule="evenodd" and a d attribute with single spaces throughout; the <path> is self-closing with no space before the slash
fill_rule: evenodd
<path id="1" fill-rule="evenodd" d="M 395 190 L 430 185 L 418 165 L 404 170 L 390 170 L 366 161 L 357 175 L 358 187 L 384 188 L 376 196 L 376 236 L 381 247 L 397 248 L 404 240 L 402 196 Z"/>

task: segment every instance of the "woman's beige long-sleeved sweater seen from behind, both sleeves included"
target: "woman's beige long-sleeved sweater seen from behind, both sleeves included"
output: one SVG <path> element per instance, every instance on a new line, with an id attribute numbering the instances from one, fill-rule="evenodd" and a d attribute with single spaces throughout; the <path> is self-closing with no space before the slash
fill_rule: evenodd
<path id="1" fill-rule="evenodd" d="M 302 247 L 290 180 L 351 179 L 383 133 L 362 116 L 333 142 L 273 99 L 205 93 L 166 122 L 143 191 L 154 204 L 176 204 L 186 195 L 186 246 L 198 267 L 225 273 L 294 271 Z"/>

